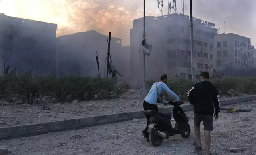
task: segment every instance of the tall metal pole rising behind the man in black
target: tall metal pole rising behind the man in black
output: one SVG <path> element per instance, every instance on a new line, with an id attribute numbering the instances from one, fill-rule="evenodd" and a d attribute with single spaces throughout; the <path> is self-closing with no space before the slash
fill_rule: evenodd
<path id="1" fill-rule="evenodd" d="M 190 6 L 190 47 L 191 47 L 191 80 L 194 80 L 194 36 L 193 36 L 193 14 L 192 14 L 192 0 L 189 0 Z"/>

